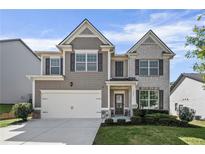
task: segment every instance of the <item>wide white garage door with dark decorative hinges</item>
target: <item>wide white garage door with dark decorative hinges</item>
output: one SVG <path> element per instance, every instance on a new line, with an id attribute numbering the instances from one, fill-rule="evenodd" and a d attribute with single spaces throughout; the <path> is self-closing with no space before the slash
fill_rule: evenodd
<path id="1" fill-rule="evenodd" d="M 41 90 L 41 118 L 100 117 L 100 90 Z"/>

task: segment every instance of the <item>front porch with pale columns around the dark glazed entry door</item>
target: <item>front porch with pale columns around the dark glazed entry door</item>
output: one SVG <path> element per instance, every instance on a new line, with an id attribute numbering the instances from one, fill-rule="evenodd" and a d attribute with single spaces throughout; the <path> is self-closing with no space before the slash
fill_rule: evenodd
<path id="1" fill-rule="evenodd" d="M 109 118 L 126 119 L 133 115 L 132 109 L 137 108 L 136 80 L 109 80 L 108 89 L 108 116 Z"/>

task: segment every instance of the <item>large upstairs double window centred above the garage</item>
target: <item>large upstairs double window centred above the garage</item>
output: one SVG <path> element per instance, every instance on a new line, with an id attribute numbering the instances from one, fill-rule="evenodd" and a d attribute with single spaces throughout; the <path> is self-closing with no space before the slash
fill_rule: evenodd
<path id="1" fill-rule="evenodd" d="M 97 53 L 76 53 L 77 72 L 96 72 Z"/>

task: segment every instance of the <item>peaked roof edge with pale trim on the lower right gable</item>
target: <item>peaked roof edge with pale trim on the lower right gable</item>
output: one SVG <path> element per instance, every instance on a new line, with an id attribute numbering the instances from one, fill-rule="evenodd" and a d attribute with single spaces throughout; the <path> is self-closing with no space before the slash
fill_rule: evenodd
<path id="1" fill-rule="evenodd" d="M 137 43 L 135 43 L 128 51 L 127 53 L 133 52 L 140 44 L 142 44 L 149 36 L 151 36 L 154 40 L 159 42 L 159 44 L 166 49 L 167 54 L 175 55 L 175 53 L 152 31 L 149 30 Z"/>

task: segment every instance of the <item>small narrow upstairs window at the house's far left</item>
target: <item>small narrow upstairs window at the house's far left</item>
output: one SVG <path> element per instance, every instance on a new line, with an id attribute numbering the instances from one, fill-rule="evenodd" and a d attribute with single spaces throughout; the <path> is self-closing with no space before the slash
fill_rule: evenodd
<path id="1" fill-rule="evenodd" d="M 60 58 L 50 59 L 50 72 L 51 72 L 51 75 L 60 74 Z"/>

